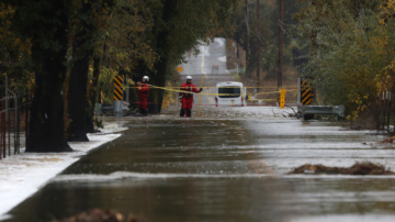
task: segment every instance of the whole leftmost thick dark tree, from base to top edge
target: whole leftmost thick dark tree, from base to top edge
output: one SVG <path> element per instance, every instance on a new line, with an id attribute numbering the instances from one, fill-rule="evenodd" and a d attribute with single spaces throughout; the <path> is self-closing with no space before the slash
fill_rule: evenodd
<path id="1" fill-rule="evenodd" d="M 65 137 L 63 99 L 72 4 L 64 0 L 7 3 L 15 7 L 13 27 L 32 42 L 35 88 L 26 152 L 72 151 Z"/>

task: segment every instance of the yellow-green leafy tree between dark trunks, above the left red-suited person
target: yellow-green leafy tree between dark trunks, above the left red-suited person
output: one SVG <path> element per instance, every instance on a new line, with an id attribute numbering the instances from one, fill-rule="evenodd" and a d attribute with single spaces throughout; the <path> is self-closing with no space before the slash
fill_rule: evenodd
<path id="1" fill-rule="evenodd" d="M 116 75 L 133 77 L 133 69 L 144 64 L 153 69 L 157 59 L 149 46 L 148 35 L 153 31 L 153 8 L 156 1 L 121 0 L 116 3 L 106 22 L 103 35 L 97 46 L 97 55 L 101 57 L 100 71 L 95 92 L 103 91 L 106 101 L 113 101 L 113 78 Z M 137 75 L 136 75 L 137 76 Z M 132 88 L 133 89 L 133 88 Z M 93 103 L 93 102 L 92 102 Z"/>

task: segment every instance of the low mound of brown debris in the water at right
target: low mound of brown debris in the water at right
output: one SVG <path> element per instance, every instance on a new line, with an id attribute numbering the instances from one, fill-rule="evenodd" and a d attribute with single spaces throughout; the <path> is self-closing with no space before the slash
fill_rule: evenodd
<path id="1" fill-rule="evenodd" d="M 305 164 L 295 168 L 293 174 L 320 174 L 320 175 L 395 175 L 394 171 L 385 168 L 383 165 L 373 164 L 370 162 L 356 163 L 351 167 L 327 167 L 324 165 Z"/>

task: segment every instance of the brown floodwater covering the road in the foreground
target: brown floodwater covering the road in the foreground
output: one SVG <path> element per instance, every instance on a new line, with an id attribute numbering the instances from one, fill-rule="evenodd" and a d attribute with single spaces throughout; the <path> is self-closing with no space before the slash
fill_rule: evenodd
<path id="1" fill-rule="evenodd" d="M 395 177 L 286 175 L 307 163 L 394 167 L 393 145 L 362 144 L 382 136 L 286 119 L 129 120 L 122 137 L 67 168 L 7 221 L 93 208 L 150 222 L 395 220 Z"/>

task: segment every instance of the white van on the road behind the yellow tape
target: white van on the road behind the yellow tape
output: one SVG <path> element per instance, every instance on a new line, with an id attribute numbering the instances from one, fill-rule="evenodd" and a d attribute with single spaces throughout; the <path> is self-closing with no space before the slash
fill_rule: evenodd
<path id="1" fill-rule="evenodd" d="M 244 107 L 246 106 L 246 88 L 238 81 L 218 82 L 216 88 L 216 107 Z"/>

